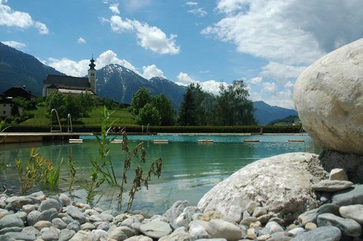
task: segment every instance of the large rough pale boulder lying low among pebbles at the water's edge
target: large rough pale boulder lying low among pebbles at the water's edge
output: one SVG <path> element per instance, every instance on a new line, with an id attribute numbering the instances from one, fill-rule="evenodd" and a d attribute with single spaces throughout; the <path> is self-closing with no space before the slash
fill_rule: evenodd
<path id="1" fill-rule="evenodd" d="M 256 201 L 271 214 L 284 218 L 290 213 L 297 218 L 318 207 L 311 180 L 317 182 L 328 176 L 318 156 L 312 153 L 275 155 L 253 162 L 218 183 L 203 196 L 198 207 L 203 212 L 216 210 L 234 216 L 229 212 L 236 212 L 238 207 L 242 213 L 251 201 Z"/>

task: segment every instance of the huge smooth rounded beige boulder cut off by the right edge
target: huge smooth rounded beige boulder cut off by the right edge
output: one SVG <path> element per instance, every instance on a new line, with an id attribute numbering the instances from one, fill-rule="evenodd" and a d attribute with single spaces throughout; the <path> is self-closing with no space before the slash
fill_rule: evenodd
<path id="1" fill-rule="evenodd" d="M 324 150 L 363 155 L 363 38 L 306 68 L 294 101 L 305 131 Z"/>

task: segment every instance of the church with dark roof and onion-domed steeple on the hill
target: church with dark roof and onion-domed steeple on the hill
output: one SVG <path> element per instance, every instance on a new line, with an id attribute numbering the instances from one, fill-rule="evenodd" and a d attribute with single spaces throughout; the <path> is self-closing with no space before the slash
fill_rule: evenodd
<path id="1" fill-rule="evenodd" d="M 96 97 L 96 74 L 95 60 L 90 60 L 88 77 L 73 77 L 66 75 L 48 75 L 43 85 L 43 97 L 49 96 L 51 92 L 59 91 L 64 94 L 91 94 Z"/>

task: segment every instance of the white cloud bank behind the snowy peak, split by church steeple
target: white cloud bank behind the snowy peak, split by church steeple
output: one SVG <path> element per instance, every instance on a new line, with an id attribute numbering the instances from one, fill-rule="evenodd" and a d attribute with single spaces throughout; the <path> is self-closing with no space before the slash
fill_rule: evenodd
<path id="1" fill-rule="evenodd" d="M 117 57 L 116 53 L 112 50 L 104 51 L 96 58 L 97 69 L 103 68 L 108 64 L 120 64 L 125 66 L 125 68 L 129 68 L 130 70 L 138 73 L 136 68 L 129 63 L 127 60 L 121 60 Z M 55 68 L 57 71 L 65 73 L 66 75 L 82 77 L 87 75 L 88 64 L 90 64 L 90 60 L 69 60 L 68 58 L 62 58 L 60 60 L 56 58 L 49 58 L 48 65 Z M 140 73 L 138 73 L 140 74 Z"/>

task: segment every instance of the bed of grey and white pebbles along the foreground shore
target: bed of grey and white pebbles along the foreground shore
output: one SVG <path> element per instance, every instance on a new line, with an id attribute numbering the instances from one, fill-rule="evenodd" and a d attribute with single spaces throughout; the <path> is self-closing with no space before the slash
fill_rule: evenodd
<path id="1" fill-rule="evenodd" d="M 312 185 L 324 203 L 286 221 L 251 202 L 235 223 L 222 212 L 202 213 L 188 201 L 177 201 L 162 216 L 119 214 L 71 201 L 65 194 L 46 198 L 0 194 L 0 240 L 363 240 L 363 185 L 347 181 L 344 170 Z M 285 216 L 286 217 L 286 216 Z"/>

